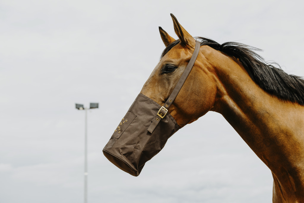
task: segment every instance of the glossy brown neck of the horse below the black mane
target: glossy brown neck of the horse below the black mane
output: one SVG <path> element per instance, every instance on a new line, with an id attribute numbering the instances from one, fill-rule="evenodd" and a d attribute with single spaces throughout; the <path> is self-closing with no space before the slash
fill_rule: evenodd
<path id="1" fill-rule="evenodd" d="M 218 93 L 211 110 L 225 117 L 275 176 L 303 184 L 304 107 L 266 93 L 239 61 L 220 52 L 216 57 Z M 281 179 L 295 187 L 294 180 Z"/>

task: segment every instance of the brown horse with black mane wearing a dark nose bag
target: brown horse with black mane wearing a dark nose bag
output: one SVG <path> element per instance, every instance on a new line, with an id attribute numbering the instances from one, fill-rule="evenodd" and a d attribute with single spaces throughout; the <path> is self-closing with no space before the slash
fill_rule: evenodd
<path id="1" fill-rule="evenodd" d="M 288 75 L 277 64 L 265 62 L 255 53 L 257 48 L 194 38 L 173 14 L 171 17 L 178 40 L 159 27 L 166 48 L 105 146 L 105 156 L 137 176 L 144 163 L 179 128 L 215 111 L 271 170 L 272 201 L 304 202 L 304 80 Z M 197 56 L 192 69 L 171 99 L 194 52 Z M 159 107 L 157 115 L 154 117 L 156 113 L 152 112 L 150 116 L 150 109 L 157 111 Z M 136 117 L 140 122 L 147 117 L 147 124 L 132 124 Z M 166 120 L 152 129 L 156 119 Z M 111 152 L 114 148 L 116 152 Z"/>

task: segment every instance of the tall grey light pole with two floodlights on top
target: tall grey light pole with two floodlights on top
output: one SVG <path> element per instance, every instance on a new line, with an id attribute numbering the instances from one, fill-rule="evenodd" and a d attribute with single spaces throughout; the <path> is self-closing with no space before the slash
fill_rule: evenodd
<path id="1" fill-rule="evenodd" d="M 98 103 L 90 103 L 90 109 L 98 108 Z M 76 109 L 85 110 L 85 187 L 84 187 L 84 201 L 88 202 L 88 138 L 87 138 L 87 112 L 88 108 L 83 104 L 76 103 Z"/>

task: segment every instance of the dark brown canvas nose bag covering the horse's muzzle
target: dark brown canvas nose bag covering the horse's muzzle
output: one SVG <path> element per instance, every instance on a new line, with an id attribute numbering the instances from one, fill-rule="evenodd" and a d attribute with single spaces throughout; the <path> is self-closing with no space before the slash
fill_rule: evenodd
<path id="1" fill-rule="evenodd" d="M 144 164 L 163 149 L 179 126 L 168 112 L 152 133 L 148 128 L 161 106 L 139 94 L 102 150 L 121 170 L 138 176 Z"/>

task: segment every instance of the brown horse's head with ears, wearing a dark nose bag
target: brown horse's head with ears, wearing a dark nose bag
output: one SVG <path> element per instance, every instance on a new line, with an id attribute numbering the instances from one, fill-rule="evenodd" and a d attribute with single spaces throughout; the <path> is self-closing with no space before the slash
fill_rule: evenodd
<path id="1" fill-rule="evenodd" d="M 212 66 L 202 60 L 200 42 L 171 17 L 179 39 L 159 27 L 166 46 L 162 58 L 103 149 L 112 163 L 133 176 L 179 128 L 212 109 L 216 98 Z"/>

